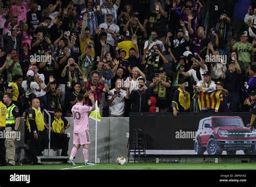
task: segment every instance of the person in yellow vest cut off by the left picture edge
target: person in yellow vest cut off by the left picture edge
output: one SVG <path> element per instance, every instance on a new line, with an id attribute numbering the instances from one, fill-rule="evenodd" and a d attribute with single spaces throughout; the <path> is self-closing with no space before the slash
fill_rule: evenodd
<path id="1" fill-rule="evenodd" d="M 5 161 L 5 138 L 4 138 L 4 133 L 5 133 L 5 121 L 6 121 L 6 113 L 7 113 L 7 108 L 2 102 L 3 100 L 3 94 L 0 93 L 0 166 L 5 166 L 6 161 Z"/>

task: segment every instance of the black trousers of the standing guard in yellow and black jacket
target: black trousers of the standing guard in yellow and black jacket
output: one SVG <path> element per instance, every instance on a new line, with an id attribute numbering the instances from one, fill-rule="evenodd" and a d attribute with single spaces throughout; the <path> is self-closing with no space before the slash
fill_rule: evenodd
<path id="1" fill-rule="evenodd" d="M 34 134 L 29 134 L 29 155 L 32 162 L 37 162 L 37 154 L 48 148 L 49 138 L 45 131 L 39 131 L 38 139 L 34 139 Z"/>

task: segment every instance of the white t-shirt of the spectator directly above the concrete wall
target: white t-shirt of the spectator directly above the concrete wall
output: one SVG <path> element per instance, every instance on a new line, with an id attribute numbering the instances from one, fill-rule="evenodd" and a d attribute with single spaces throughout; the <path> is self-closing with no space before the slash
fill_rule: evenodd
<path id="1" fill-rule="evenodd" d="M 107 99 L 112 98 L 114 91 L 116 91 L 115 88 L 109 91 Z M 124 98 L 126 95 L 126 91 L 121 89 L 119 94 L 119 97 L 117 96 L 116 98 L 114 98 L 113 102 L 109 105 L 110 114 L 117 116 L 122 115 L 124 113 Z"/>

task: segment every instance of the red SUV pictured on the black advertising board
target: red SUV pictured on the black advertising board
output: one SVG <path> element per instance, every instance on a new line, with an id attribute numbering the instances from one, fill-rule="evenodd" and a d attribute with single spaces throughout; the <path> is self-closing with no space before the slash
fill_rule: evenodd
<path id="1" fill-rule="evenodd" d="M 256 131 L 250 130 L 240 117 L 211 116 L 199 121 L 194 151 L 196 154 L 235 154 L 244 150 L 245 154 L 256 154 Z"/>

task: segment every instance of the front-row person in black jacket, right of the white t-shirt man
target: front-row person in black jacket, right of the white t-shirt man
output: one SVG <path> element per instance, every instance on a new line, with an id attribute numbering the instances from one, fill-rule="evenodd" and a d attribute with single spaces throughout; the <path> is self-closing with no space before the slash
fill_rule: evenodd
<path id="1" fill-rule="evenodd" d="M 144 78 L 138 78 L 138 83 L 139 88 L 132 90 L 131 94 L 126 92 L 125 98 L 129 98 L 131 102 L 131 112 L 149 112 L 149 105 L 147 104 L 150 97 L 149 89 L 145 87 Z"/>

